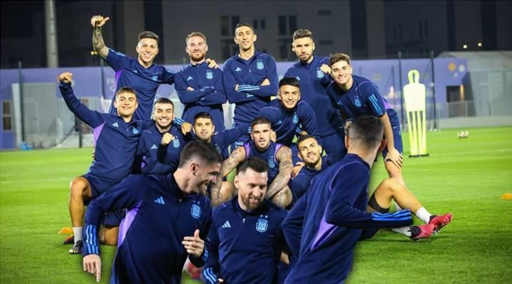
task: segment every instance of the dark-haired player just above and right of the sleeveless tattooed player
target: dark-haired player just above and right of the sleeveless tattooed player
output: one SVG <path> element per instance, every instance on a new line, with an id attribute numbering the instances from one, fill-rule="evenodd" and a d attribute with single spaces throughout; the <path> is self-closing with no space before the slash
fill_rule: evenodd
<path id="1" fill-rule="evenodd" d="M 262 108 L 257 116 L 265 117 L 272 123 L 276 142 L 286 146 L 292 146 L 299 126 L 309 135 L 318 136 L 314 111 L 301 99 L 299 80 L 295 78 L 280 80 L 277 99 Z"/>

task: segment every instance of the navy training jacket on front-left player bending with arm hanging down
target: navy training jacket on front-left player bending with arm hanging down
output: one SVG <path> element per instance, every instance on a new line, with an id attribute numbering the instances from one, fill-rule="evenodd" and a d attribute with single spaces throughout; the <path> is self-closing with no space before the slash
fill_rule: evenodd
<path id="1" fill-rule="evenodd" d="M 110 283 L 181 283 L 187 256 L 198 267 L 208 256 L 189 256 L 183 237 L 200 230 L 206 239 L 211 223 L 207 197 L 183 193 L 172 175 L 130 175 L 87 207 L 83 255 L 100 254 L 98 231 L 105 212 L 127 208 L 119 226 Z"/>

